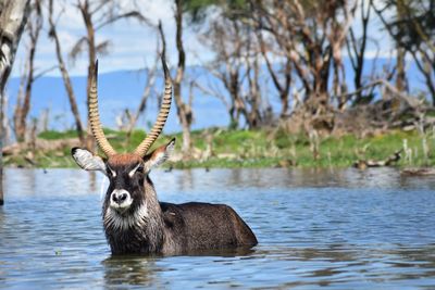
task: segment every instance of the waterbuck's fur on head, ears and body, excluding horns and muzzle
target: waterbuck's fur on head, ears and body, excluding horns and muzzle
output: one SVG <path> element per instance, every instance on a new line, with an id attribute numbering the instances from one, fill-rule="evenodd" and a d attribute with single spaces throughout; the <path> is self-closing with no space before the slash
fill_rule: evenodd
<path id="1" fill-rule="evenodd" d="M 112 155 L 105 162 L 86 150 L 72 150 L 80 167 L 101 171 L 110 179 L 102 219 L 112 253 L 171 255 L 256 245 L 251 229 L 227 205 L 158 201 L 148 174 L 167 159 L 173 146 L 174 140 L 144 159 L 125 153 Z M 126 190 L 133 200 L 125 212 L 110 206 L 115 189 Z"/>

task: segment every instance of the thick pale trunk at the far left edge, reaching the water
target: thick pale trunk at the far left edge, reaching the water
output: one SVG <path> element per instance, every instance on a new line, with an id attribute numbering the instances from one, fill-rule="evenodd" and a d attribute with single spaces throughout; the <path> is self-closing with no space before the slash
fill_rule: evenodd
<path id="1" fill-rule="evenodd" d="M 4 88 L 11 74 L 16 48 L 27 22 L 29 0 L 0 2 L 0 119 L 3 121 Z M 3 122 L 0 122 L 0 205 L 3 205 Z"/>

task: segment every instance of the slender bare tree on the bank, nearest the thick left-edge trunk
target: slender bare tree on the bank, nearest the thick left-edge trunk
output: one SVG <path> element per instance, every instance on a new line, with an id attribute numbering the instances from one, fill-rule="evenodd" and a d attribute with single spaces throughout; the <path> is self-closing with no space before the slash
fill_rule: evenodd
<path id="1" fill-rule="evenodd" d="M 26 85 L 23 94 L 18 93 L 14 110 L 13 123 L 16 140 L 24 141 L 27 128 L 27 115 L 30 110 L 32 88 L 36 79 L 35 55 L 39 35 L 42 29 L 41 0 L 32 3 L 29 21 L 26 30 L 29 38 L 28 59 L 26 65 Z"/>

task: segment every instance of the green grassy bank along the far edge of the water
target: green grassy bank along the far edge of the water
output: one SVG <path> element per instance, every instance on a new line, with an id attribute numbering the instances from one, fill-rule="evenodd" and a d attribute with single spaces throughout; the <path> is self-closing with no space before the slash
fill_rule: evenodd
<path id="1" fill-rule="evenodd" d="M 128 141 L 125 133 L 107 129 L 105 134 L 112 146 L 122 151 L 133 150 L 144 138 L 145 133 L 134 131 Z M 181 134 L 160 137 L 157 144 L 162 144 L 172 137 L 178 142 L 174 162 L 166 166 L 176 168 L 190 167 L 348 167 L 357 160 L 385 160 L 408 143 L 408 157 L 402 153 L 398 166 L 434 165 L 432 149 L 435 147 L 433 134 L 421 135 L 417 131 L 388 131 L 359 138 L 353 135 L 341 137 L 319 137 L 310 139 L 306 135 L 288 135 L 281 131 L 265 130 L 225 130 L 209 129 L 192 133 L 192 157 L 182 160 L 179 153 Z M 40 139 L 59 140 L 75 137 L 74 131 L 45 131 Z M 426 143 L 427 154 L 424 154 Z M 318 148 L 315 150 L 314 148 Z M 7 166 L 25 167 L 75 167 L 70 156 L 70 147 L 55 151 L 38 150 L 18 155 L 5 156 Z M 315 153 L 316 151 L 316 153 Z M 412 152 L 411 154 L 409 154 Z"/>

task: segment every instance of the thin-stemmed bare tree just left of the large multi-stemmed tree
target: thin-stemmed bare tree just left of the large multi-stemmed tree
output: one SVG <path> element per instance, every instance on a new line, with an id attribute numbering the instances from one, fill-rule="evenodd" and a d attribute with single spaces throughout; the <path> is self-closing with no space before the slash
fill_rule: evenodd
<path id="1" fill-rule="evenodd" d="M 215 59 L 207 67 L 222 83 L 224 90 L 200 87 L 201 90 L 223 101 L 231 128 L 239 126 L 240 117 L 249 128 L 259 127 L 264 115 L 260 88 L 261 53 L 251 27 L 236 17 L 224 16 L 213 21 L 202 38 L 215 52 Z"/>

